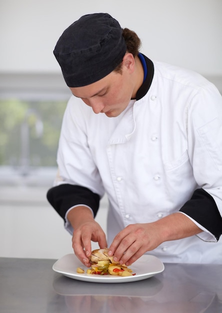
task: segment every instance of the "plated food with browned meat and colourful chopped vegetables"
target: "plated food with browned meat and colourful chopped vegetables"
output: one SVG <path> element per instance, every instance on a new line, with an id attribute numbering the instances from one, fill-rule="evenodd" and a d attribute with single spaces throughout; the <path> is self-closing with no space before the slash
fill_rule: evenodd
<path id="1" fill-rule="evenodd" d="M 87 274 L 96 275 L 118 275 L 118 276 L 133 276 L 132 270 L 125 264 L 119 264 L 113 260 L 113 256 L 108 255 L 108 248 L 95 249 L 89 257 L 91 268 L 86 270 Z M 81 267 L 77 267 L 77 273 L 85 273 Z"/>

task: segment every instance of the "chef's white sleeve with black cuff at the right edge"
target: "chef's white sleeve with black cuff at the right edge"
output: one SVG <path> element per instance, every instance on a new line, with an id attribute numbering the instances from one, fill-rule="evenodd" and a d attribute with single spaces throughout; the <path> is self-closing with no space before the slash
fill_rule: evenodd
<path id="1" fill-rule="evenodd" d="M 207 230 L 208 234 L 198 234 L 201 239 L 216 241 L 222 233 L 222 98 L 211 83 L 190 102 L 187 135 L 189 159 L 200 188 L 180 212 Z"/>

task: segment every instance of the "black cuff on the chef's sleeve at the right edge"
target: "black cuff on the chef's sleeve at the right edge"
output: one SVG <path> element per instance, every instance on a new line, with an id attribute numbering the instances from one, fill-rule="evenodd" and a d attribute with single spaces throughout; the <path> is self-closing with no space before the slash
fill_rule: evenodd
<path id="1" fill-rule="evenodd" d="M 180 211 L 192 217 L 218 240 L 222 233 L 222 217 L 213 197 L 204 189 L 196 189 Z"/>

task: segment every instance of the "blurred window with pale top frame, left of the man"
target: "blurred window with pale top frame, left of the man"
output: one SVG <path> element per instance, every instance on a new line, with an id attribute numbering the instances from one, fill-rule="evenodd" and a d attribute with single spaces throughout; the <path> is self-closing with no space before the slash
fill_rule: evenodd
<path id="1" fill-rule="evenodd" d="M 70 96 L 56 74 L 1 74 L 0 167 L 22 175 L 30 168 L 56 167 L 63 112 Z"/>

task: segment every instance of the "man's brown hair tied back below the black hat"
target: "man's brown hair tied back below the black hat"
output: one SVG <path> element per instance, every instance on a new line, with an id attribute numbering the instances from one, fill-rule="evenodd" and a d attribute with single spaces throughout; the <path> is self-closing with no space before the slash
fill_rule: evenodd
<path id="1" fill-rule="evenodd" d="M 137 36 L 137 34 L 128 28 L 122 29 L 122 36 L 126 43 L 126 52 L 132 53 L 133 57 L 138 55 L 139 48 L 141 46 L 141 40 Z M 114 71 L 121 73 L 122 71 L 122 61 L 120 64 L 118 64 Z"/>

